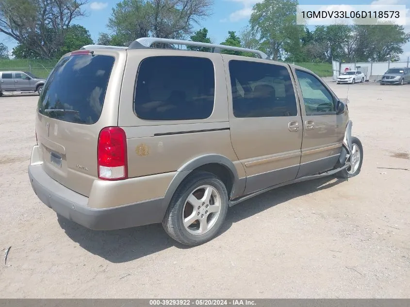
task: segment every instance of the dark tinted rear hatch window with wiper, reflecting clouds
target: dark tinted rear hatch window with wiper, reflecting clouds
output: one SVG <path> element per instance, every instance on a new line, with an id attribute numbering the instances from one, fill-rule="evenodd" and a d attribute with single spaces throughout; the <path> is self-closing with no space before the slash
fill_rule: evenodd
<path id="1" fill-rule="evenodd" d="M 73 55 L 53 69 L 38 100 L 38 112 L 72 123 L 98 121 L 115 58 Z"/>

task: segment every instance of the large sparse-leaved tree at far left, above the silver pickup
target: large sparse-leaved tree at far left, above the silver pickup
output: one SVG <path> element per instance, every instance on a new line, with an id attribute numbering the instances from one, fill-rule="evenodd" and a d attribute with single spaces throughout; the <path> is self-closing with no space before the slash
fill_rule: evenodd
<path id="1" fill-rule="evenodd" d="M 88 0 L 1 0 L 0 32 L 45 58 L 63 47 L 73 19 Z"/>

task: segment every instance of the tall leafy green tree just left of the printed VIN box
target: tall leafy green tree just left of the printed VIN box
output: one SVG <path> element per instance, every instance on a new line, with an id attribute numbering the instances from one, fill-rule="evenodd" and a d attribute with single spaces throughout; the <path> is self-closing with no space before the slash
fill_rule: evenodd
<path id="1" fill-rule="evenodd" d="M 279 60 L 284 53 L 297 54 L 304 27 L 296 24 L 297 0 L 263 0 L 253 6 L 249 20 L 268 56 Z"/>

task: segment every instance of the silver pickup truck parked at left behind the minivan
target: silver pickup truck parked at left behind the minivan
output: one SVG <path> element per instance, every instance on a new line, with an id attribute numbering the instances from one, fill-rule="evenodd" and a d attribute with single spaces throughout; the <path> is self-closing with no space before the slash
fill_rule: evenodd
<path id="1" fill-rule="evenodd" d="M 4 92 L 37 92 L 41 94 L 46 79 L 26 71 L 0 71 L 0 96 Z"/>

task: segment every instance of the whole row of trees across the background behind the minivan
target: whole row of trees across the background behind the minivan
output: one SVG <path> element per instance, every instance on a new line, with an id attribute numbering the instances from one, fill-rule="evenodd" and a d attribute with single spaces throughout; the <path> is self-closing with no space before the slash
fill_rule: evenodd
<path id="1" fill-rule="evenodd" d="M 61 57 L 94 43 L 87 29 L 72 24 L 75 18 L 87 16 L 87 2 L 1 0 L 0 32 L 17 41 L 12 51 L 16 58 Z M 99 33 L 95 43 L 128 46 L 137 38 L 152 36 L 259 49 L 273 60 L 286 62 L 377 62 L 398 61 L 403 45 L 410 41 L 410 33 L 394 24 L 330 25 L 310 30 L 296 24 L 297 4 L 297 0 L 263 0 L 253 6 L 245 28 L 229 31 L 223 42 L 213 42 L 206 28 L 194 31 L 213 14 L 213 0 L 122 0 L 112 9 L 109 32 Z M 0 57 L 8 57 L 1 43 Z"/>

